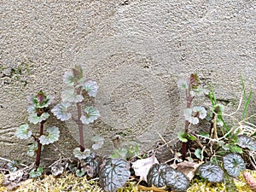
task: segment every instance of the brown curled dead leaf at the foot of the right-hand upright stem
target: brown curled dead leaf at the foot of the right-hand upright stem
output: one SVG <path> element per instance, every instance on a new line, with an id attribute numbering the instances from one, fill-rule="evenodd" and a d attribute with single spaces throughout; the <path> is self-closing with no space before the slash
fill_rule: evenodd
<path id="1" fill-rule="evenodd" d="M 177 171 L 183 172 L 189 178 L 189 181 L 195 176 L 196 169 L 201 166 L 201 163 L 183 161 L 177 164 Z"/>

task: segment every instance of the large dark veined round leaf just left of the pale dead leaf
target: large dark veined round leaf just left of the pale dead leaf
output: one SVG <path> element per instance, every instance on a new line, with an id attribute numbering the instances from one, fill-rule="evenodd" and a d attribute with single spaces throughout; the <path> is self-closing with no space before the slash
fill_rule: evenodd
<path id="1" fill-rule="evenodd" d="M 130 163 L 122 159 L 108 159 L 99 174 L 99 183 L 106 192 L 115 192 L 129 179 Z"/>

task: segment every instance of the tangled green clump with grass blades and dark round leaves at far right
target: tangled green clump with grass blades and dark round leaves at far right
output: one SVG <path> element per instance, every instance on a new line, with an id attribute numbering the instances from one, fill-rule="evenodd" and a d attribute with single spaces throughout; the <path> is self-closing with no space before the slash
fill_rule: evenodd
<path id="1" fill-rule="evenodd" d="M 242 89 L 243 95 L 246 96 L 243 82 Z M 251 94 L 252 92 L 245 99 L 241 122 L 247 117 L 247 106 L 252 97 Z M 225 122 L 224 115 L 233 118 L 233 113 L 224 114 L 224 105 L 217 102 L 213 89 L 208 96 L 212 102 L 212 108 L 207 113 L 207 119 L 211 123 L 210 132 L 209 134 L 201 133 L 198 135 L 198 137 L 203 137 L 207 143 L 205 145 L 201 144 L 201 149 L 198 148 L 195 151 L 195 156 L 201 160 L 205 159 L 211 162 L 201 165 L 198 172 L 201 177 L 209 182 L 225 181 L 229 183 L 230 177 L 238 177 L 245 170 L 246 164 L 242 156 L 246 157 L 247 154 L 255 151 L 256 143 L 253 137 L 244 134 L 244 127 L 241 122 L 232 126 Z M 241 102 L 238 108 L 240 107 Z M 234 122 L 236 121 L 234 120 Z M 253 158 L 253 156 L 250 157 Z"/>

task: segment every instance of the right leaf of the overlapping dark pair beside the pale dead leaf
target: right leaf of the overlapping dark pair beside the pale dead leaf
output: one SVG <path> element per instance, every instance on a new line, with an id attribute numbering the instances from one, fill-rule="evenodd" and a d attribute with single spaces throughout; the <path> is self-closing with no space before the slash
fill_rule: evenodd
<path id="1" fill-rule="evenodd" d="M 177 172 L 169 167 L 166 169 L 164 176 L 166 180 L 166 186 L 170 187 L 174 191 L 186 191 L 189 188 L 189 179 L 183 174 L 183 172 Z"/>

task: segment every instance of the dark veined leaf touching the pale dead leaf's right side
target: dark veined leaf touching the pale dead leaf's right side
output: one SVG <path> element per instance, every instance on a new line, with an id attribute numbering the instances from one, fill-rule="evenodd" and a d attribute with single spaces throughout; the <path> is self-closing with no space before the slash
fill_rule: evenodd
<path id="1" fill-rule="evenodd" d="M 166 170 L 171 169 L 166 164 L 154 164 L 150 167 L 147 175 L 148 185 L 154 185 L 157 188 L 166 186 Z"/>

